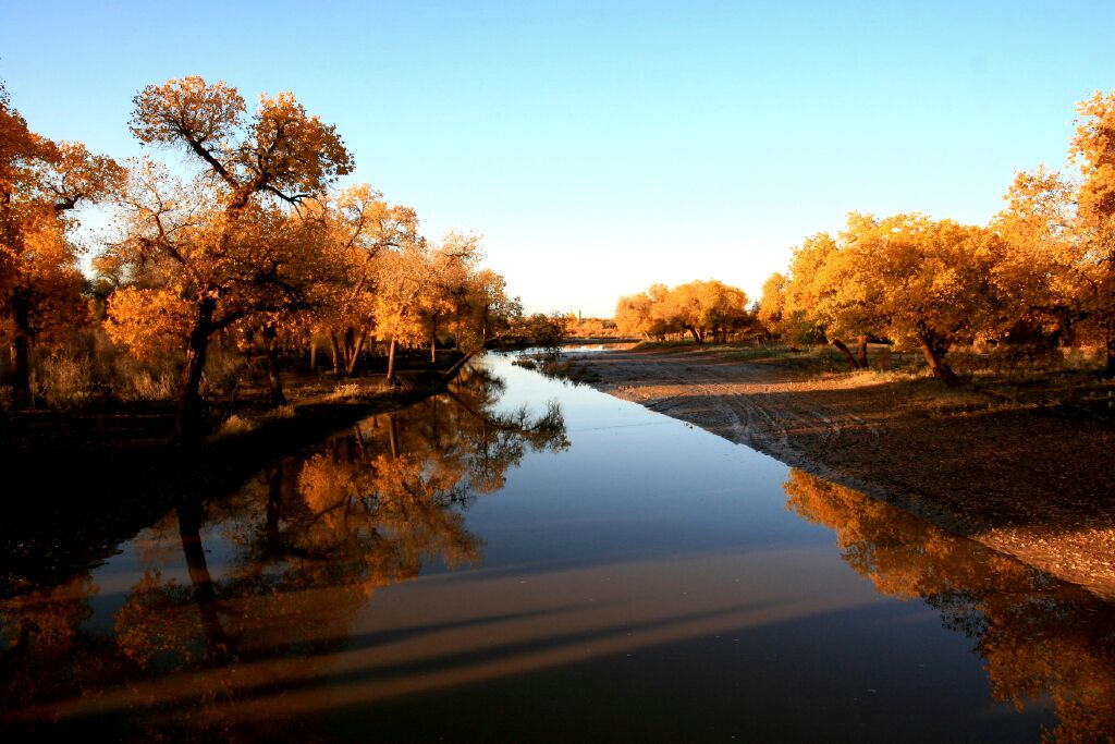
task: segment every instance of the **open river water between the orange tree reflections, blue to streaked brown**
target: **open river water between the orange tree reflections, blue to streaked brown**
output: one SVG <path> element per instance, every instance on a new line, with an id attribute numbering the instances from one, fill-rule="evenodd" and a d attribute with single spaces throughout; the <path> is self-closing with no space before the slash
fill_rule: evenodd
<path id="1" fill-rule="evenodd" d="M 343 650 L 312 665 L 244 665 L 239 684 L 261 694 L 235 716 L 324 715 L 340 738 L 389 741 L 1030 741 L 1049 723 L 1040 706 L 995 703 L 970 638 L 876 593 L 828 529 L 787 510 L 785 465 L 508 358 L 485 364 L 507 384 L 500 410 L 561 402 L 569 450 L 529 453 L 466 508 L 479 566 L 428 560 L 377 589 Z M 202 530 L 219 582 L 237 551 L 227 534 Z M 173 518 L 96 571 L 91 625 L 110 627 L 153 566 L 190 586 Z M 293 688 L 262 692 L 275 682 Z"/>

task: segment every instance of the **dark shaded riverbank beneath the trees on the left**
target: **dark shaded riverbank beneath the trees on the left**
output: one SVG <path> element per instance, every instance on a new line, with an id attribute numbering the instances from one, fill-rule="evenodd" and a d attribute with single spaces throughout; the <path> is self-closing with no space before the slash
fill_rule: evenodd
<path id="1" fill-rule="evenodd" d="M 0 597 L 95 566 L 184 500 L 210 501 L 253 474 L 376 414 L 444 389 L 456 357 L 398 374 L 337 380 L 291 376 L 289 405 L 265 392 L 210 405 L 213 433 L 177 446 L 173 405 L 108 412 L 26 412 L 0 426 L 11 484 L 0 523 Z M 17 485 L 19 484 L 19 485 Z"/>

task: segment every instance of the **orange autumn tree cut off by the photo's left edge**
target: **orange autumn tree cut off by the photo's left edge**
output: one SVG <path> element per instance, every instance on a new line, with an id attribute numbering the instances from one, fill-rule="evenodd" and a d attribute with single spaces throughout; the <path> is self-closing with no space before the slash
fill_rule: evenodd
<path id="1" fill-rule="evenodd" d="M 31 400 L 32 341 L 85 317 L 74 212 L 122 177 L 112 158 L 32 133 L 0 85 L 0 336 L 10 346 L 17 408 Z"/>

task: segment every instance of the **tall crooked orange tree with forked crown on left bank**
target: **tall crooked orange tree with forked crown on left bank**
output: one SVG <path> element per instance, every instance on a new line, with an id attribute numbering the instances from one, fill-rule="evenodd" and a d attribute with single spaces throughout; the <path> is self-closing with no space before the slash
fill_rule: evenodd
<path id="1" fill-rule="evenodd" d="M 283 242 L 284 212 L 321 194 L 352 161 L 334 127 L 289 93 L 261 96 L 254 115 L 224 83 L 200 77 L 148 86 L 135 97 L 133 134 L 185 151 L 192 183 L 152 163 L 125 200 L 126 239 L 116 251 L 138 284 L 109 303 L 110 329 L 140 349 L 156 336 L 185 340 L 177 433 L 198 431 L 200 386 L 211 339 L 254 312 L 299 301 L 289 269 L 313 249 Z M 147 330 L 142 330 L 147 327 Z"/>

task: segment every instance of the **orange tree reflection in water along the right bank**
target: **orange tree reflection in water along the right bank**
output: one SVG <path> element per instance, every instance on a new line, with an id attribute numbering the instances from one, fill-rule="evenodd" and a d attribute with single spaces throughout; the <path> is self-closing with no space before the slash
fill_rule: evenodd
<path id="1" fill-rule="evenodd" d="M 1112 741 L 1115 608 L 857 491 L 792 468 L 787 508 L 836 532 L 843 559 L 884 595 L 923 598 L 976 641 L 996 698 L 1048 696 L 1058 742 Z"/>

